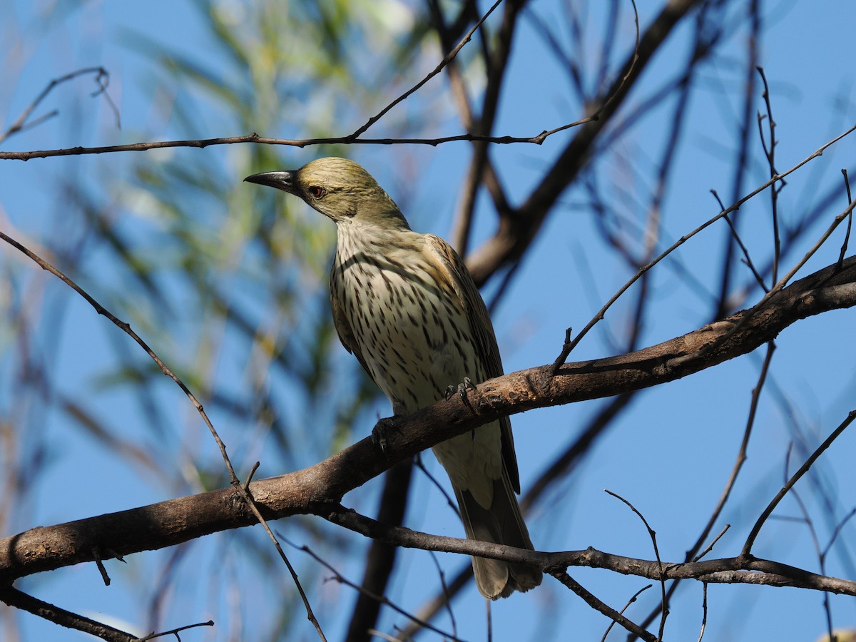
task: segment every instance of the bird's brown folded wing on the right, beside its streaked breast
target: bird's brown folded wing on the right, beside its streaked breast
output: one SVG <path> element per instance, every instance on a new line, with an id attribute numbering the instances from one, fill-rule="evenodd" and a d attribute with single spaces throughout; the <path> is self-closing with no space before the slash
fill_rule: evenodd
<path id="1" fill-rule="evenodd" d="M 455 249 L 439 236 L 425 235 L 425 255 L 431 264 L 437 269 L 437 276 L 442 279 L 444 285 L 449 286 L 449 291 L 455 292 L 467 314 L 470 324 L 471 336 L 475 342 L 475 348 L 484 364 L 484 371 L 488 378 L 500 377 L 502 375 L 502 359 L 499 355 L 499 347 L 496 345 L 496 335 L 493 332 L 493 324 L 490 323 L 490 313 L 484 300 L 479 294 L 479 288 L 473 282 L 464 265 L 463 259 L 458 256 Z M 481 383 L 481 382 L 479 382 Z M 508 471 L 514 492 L 520 492 L 520 473 L 517 469 L 517 456 L 514 455 L 514 437 L 511 434 L 511 420 L 502 417 L 499 420 L 502 428 L 502 460 Z"/>

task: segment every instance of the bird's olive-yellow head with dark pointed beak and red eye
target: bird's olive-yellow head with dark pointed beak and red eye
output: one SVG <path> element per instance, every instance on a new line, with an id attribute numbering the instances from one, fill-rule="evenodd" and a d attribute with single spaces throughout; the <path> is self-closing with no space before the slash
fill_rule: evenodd
<path id="1" fill-rule="evenodd" d="M 383 187 L 347 158 L 318 158 L 300 169 L 253 174 L 244 180 L 300 196 L 336 223 L 409 229 Z"/>

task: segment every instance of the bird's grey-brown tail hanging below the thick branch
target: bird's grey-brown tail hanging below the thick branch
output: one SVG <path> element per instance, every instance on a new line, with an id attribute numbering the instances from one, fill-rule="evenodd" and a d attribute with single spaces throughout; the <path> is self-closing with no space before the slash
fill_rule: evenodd
<path id="1" fill-rule="evenodd" d="M 467 538 L 534 550 L 504 466 L 502 478 L 493 483 L 490 508 L 479 504 L 468 490 L 460 490 L 455 484 L 452 487 L 461 508 Z M 473 574 L 479 592 L 492 600 L 508 597 L 514 591 L 528 591 L 541 584 L 541 571 L 537 568 L 486 557 L 473 557 Z"/>

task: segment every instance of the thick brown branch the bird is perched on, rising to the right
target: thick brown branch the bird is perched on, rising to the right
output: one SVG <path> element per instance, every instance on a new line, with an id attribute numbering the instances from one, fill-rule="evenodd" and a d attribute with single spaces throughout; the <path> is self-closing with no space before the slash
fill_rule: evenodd
<path id="1" fill-rule="evenodd" d="M 705 325 L 651 348 L 606 359 L 513 372 L 479 385 L 469 404 L 455 395 L 438 401 L 388 432 L 387 454 L 370 438 L 354 443 L 315 466 L 282 477 L 253 482 L 250 490 L 267 519 L 293 514 L 329 514 L 341 497 L 435 443 L 467 432 L 505 414 L 558 406 L 674 381 L 770 341 L 788 325 L 811 315 L 856 306 L 856 258 L 806 276 L 765 300 L 758 308 Z M 744 320 L 747 319 L 744 323 Z M 740 331 L 728 336 L 736 324 Z M 710 348 L 713 346 L 713 348 Z M 710 349 L 708 349 L 710 348 Z M 680 360 L 676 358 L 697 354 Z M 476 413 L 470 410 L 470 405 Z M 33 528 L 0 540 L 0 585 L 24 575 L 180 544 L 212 532 L 255 522 L 234 488 L 160 502 L 142 508 Z"/>

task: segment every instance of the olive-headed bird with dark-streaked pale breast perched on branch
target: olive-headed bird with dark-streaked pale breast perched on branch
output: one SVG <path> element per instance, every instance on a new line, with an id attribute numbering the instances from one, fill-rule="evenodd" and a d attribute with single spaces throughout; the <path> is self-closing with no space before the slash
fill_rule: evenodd
<path id="1" fill-rule="evenodd" d="M 330 306 L 340 340 L 383 390 L 395 416 L 502 375 L 490 314 L 455 250 L 410 229 L 395 201 L 358 163 L 318 158 L 244 179 L 303 199 L 336 223 Z M 447 396 L 448 398 L 448 396 Z M 434 446 L 467 538 L 534 550 L 515 493 L 520 474 L 508 417 Z M 473 556 L 489 599 L 541 583 L 538 568 Z"/>

